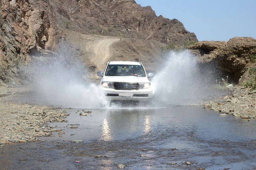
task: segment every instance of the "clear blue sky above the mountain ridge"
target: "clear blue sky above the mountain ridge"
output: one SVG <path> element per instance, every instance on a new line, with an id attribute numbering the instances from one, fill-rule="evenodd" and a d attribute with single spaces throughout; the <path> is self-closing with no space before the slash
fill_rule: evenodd
<path id="1" fill-rule="evenodd" d="M 156 16 L 178 19 L 198 41 L 256 39 L 256 0 L 135 0 Z"/>

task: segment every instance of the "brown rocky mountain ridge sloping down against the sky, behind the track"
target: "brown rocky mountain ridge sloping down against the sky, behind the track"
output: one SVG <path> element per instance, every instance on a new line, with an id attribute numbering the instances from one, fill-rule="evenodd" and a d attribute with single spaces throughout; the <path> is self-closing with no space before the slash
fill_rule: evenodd
<path id="1" fill-rule="evenodd" d="M 134 0 L 51 0 L 50 4 L 78 32 L 179 45 L 184 41 L 197 41 L 196 35 L 188 32 L 177 19 L 157 17 L 150 6 L 141 7 Z"/>

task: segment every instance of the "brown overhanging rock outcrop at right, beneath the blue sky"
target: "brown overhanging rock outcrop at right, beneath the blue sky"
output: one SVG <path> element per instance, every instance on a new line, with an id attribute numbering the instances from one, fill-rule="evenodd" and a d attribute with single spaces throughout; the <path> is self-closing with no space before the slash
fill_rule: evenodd
<path id="1" fill-rule="evenodd" d="M 188 47 L 201 63 L 214 63 L 215 67 L 230 78 L 230 82 L 243 83 L 248 68 L 255 64 L 256 40 L 251 37 L 235 37 L 229 41 L 200 41 Z"/>

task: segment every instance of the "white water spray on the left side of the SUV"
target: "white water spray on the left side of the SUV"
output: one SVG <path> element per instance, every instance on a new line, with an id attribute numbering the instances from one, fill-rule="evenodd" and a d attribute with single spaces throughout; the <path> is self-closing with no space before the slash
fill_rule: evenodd
<path id="1" fill-rule="evenodd" d="M 71 108 L 99 108 L 105 103 L 98 85 L 84 79 L 84 66 L 71 59 L 70 49 L 63 45 L 58 55 L 35 57 L 25 71 L 31 80 L 31 93 L 25 100 L 40 105 Z"/>

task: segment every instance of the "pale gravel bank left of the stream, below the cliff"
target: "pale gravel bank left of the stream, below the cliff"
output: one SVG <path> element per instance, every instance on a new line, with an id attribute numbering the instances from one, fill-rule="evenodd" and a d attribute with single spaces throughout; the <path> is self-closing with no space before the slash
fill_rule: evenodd
<path id="1" fill-rule="evenodd" d="M 49 136 L 52 131 L 47 122 L 65 122 L 65 110 L 47 106 L 17 103 L 12 99 L 24 88 L 0 87 L 0 144 L 33 142 L 37 137 Z"/>

